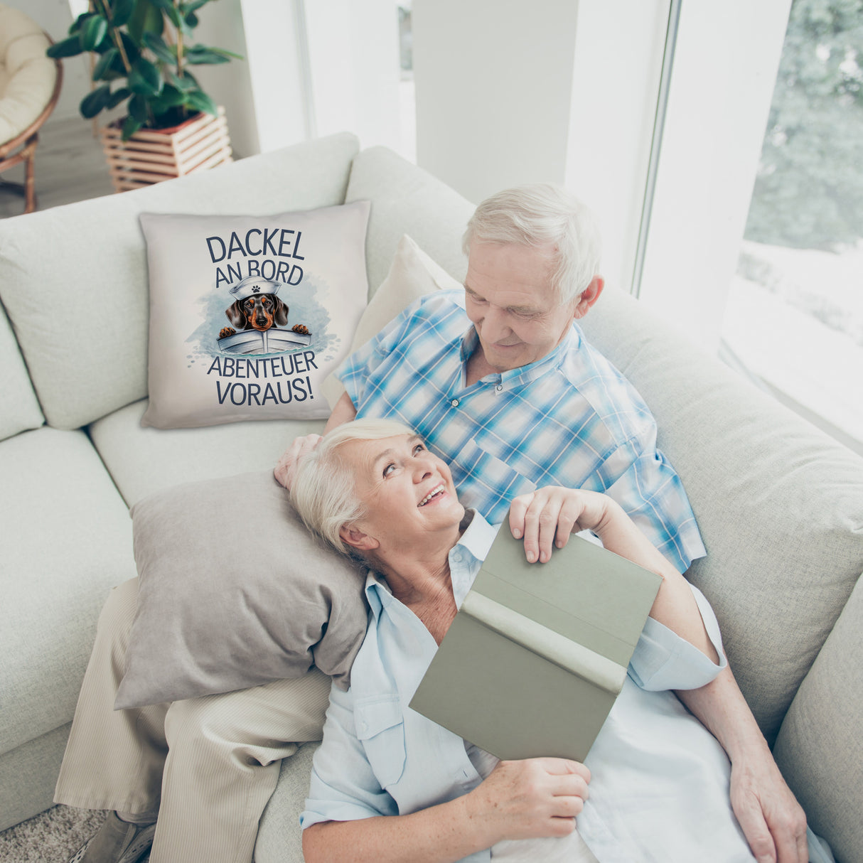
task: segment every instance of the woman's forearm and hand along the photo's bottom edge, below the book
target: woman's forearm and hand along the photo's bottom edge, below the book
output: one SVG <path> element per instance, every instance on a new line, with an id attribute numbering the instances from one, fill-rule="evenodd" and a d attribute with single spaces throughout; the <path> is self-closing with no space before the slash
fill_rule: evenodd
<path id="1" fill-rule="evenodd" d="M 411 815 L 313 824 L 306 863 L 450 863 L 503 839 L 565 836 L 588 796 L 590 773 L 566 759 L 501 761 L 463 797 Z"/>

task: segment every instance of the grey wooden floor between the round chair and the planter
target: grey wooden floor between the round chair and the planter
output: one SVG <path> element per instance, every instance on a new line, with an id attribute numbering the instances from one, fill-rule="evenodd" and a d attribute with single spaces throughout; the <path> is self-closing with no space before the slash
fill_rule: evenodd
<path id="1" fill-rule="evenodd" d="M 22 182 L 23 166 L 0 174 L 0 218 L 24 211 L 22 193 L 7 185 Z M 73 201 L 114 193 L 102 145 L 92 124 L 81 117 L 50 118 L 39 131 L 35 155 L 36 209 L 47 210 Z"/>

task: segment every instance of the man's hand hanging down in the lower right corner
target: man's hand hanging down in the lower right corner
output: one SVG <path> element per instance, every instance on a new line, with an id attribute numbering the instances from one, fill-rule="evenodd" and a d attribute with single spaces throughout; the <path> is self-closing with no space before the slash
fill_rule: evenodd
<path id="1" fill-rule="evenodd" d="M 772 756 L 731 766 L 731 805 L 759 863 L 808 863 L 806 815 Z"/>

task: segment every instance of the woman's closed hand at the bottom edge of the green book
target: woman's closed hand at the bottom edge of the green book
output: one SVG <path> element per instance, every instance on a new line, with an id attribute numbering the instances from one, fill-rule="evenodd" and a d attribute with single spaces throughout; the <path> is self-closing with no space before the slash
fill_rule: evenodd
<path id="1" fill-rule="evenodd" d="M 588 798 L 590 771 L 578 761 L 534 758 L 501 761 L 465 798 L 468 816 L 502 839 L 565 836 Z"/>

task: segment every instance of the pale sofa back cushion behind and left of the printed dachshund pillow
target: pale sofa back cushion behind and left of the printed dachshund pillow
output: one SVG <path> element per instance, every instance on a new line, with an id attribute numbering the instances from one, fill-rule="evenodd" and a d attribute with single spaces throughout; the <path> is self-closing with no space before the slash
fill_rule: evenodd
<path id="1" fill-rule="evenodd" d="M 353 135 L 333 135 L 0 222 L 0 298 L 48 423 L 78 428 L 147 394 L 139 213 L 260 215 L 341 204 L 356 150 Z M 40 302 L 30 302 L 36 293 Z"/>

